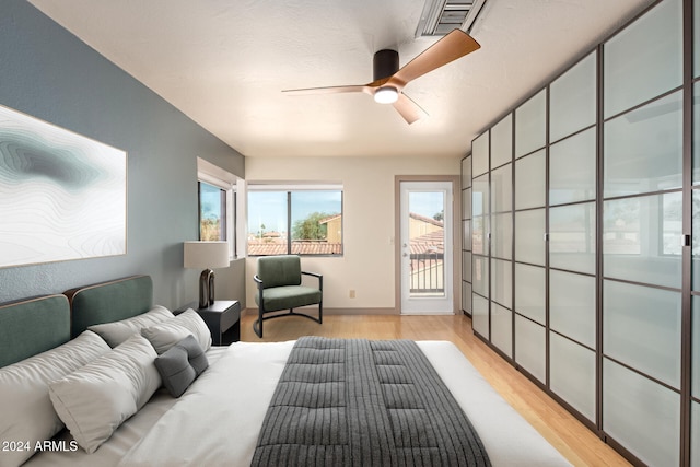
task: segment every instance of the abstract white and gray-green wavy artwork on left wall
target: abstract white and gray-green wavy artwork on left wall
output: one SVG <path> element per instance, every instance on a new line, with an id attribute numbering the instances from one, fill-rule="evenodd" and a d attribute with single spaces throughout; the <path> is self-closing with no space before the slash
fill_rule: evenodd
<path id="1" fill-rule="evenodd" d="M 127 153 L 0 106 L 0 268 L 126 255 Z"/>

